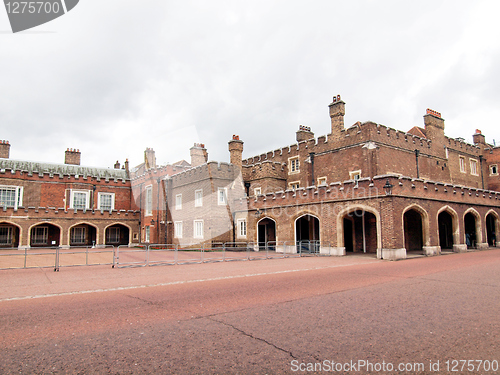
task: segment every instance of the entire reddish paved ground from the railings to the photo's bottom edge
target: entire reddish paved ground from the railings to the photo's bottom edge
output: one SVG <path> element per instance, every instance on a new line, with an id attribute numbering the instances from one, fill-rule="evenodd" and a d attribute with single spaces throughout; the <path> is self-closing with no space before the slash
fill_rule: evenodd
<path id="1" fill-rule="evenodd" d="M 441 374 L 446 361 L 495 366 L 499 270 L 500 250 L 400 262 L 2 271 L 0 373 L 286 374 L 342 365 L 361 374 L 397 373 L 402 364 L 400 373 Z M 450 373 L 500 373 L 478 366 Z"/>

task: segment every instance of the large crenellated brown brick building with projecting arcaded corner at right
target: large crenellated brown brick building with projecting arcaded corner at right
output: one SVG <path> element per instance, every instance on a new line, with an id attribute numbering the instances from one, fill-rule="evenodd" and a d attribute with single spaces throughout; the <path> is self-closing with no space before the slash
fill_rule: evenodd
<path id="1" fill-rule="evenodd" d="M 385 259 L 496 243 L 500 149 L 479 130 L 474 144 L 449 138 L 432 110 L 424 128 L 408 132 L 374 122 L 345 128 L 340 96 L 329 108 L 326 136 L 301 126 L 294 145 L 245 160 L 232 155 L 248 189 L 240 213 L 248 210 L 248 241 Z"/>

